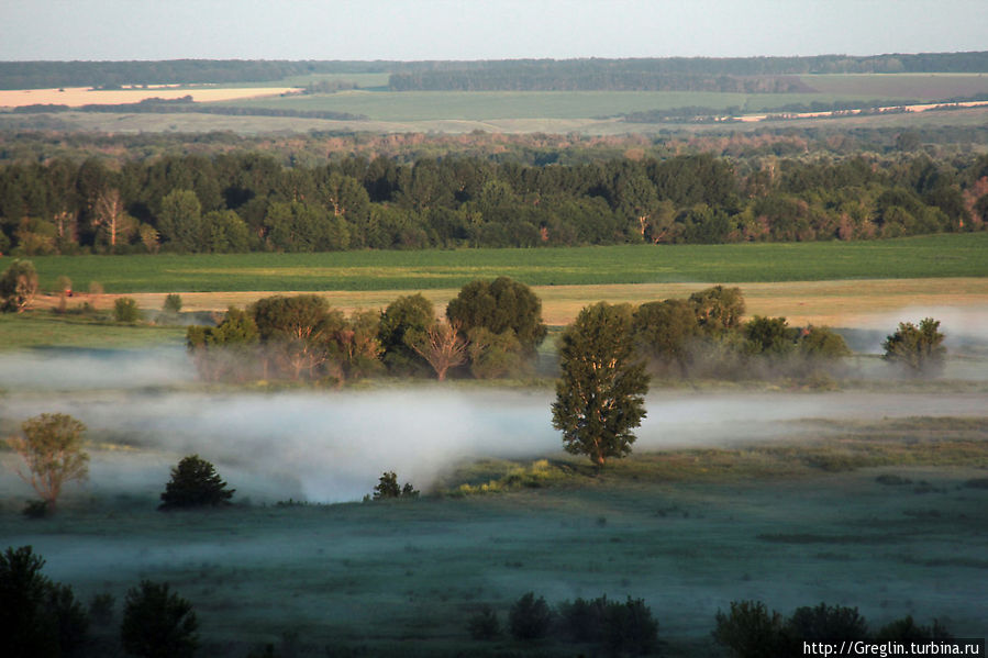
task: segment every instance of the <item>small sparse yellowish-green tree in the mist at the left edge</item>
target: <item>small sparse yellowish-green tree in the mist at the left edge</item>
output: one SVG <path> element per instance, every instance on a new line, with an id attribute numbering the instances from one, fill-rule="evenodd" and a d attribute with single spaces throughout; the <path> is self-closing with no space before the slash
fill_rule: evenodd
<path id="1" fill-rule="evenodd" d="M 66 482 L 89 475 L 89 455 L 82 450 L 86 425 L 64 413 L 43 413 L 24 421 L 21 431 L 24 436 L 8 439 L 27 466 L 18 475 L 54 509 Z"/>

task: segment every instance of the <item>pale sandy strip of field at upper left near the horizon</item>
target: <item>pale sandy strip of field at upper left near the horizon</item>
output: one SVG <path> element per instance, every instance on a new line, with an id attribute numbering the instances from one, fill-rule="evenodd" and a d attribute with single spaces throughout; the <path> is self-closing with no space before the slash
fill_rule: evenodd
<path id="1" fill-rule="evenodd" d="M 56 104 L 77 108 L 79 105 L 115 105 L 137 103 L 147 98 L 173 100 L 191 96 L 198 103 L 211 101 L 243 100 L 282 93 L 299 92 L 293 87 L 148 87 L 147 89 L 95 90 L 89 87 L 66 87 L 65 89 L 13 89 L 0 90 L 0 108 L 20 108 L 35 104 Z"/>

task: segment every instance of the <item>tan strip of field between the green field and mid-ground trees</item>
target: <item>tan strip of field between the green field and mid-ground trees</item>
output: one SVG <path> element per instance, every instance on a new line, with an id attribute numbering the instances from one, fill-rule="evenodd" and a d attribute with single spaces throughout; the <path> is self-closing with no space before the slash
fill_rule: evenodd
<path id="1" fill-rule="evenodd" d="M 747 314 L 785 316 L 790 325 L 872 326 L 890 314 L 906 309 L 988 309 L 988 278 L 954 279 L 867 279 L 853 281 L 796 281 L 784 283 L 736 283 L 747 302 Z M 542 299 L 546 324 L 565 325 L 589 303 L 633 303 L 668 298 L 686 298 L 704 287 L 702 283 L 639 283 L 609 286 L 536 286 Z M 458 289 L 423 290 L 437 309 L 458 293 Z M 184 311 L 224 311 L 231 305 L 245 306 L 274 292 L 181 292 Z M 285 292 L 282 294 L 295 294 Z M 373 292 L 325 291 L 330 303 L 347 313 L 354 309 L 384 309 L 408 290 Z M 111 308 L 118 295 L 101 295 L 98 308 Z M 122 295 L 120 295 L 122 297 Z M 160 309 L 165 293 L 134 293 L 142 309 Z M 88 300 L 81 294 L 71 303 Z M 91 300 L 90 300 L 91 301 Z M 54 298 L 43 298 L 38 305 L 54 305 Z M 901 317 L 917 322 L 920 317 Z M 895 325 L 892 327 L 895 328 Z"/>

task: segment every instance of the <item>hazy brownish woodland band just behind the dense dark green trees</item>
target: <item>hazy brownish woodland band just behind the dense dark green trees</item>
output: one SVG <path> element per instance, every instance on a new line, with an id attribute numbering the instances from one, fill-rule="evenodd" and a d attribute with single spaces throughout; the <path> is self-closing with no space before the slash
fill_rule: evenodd
<path id="1" fill-rule="evenodd" d="M 690 110 L 687 108 L 686 110 Z M 709 111 L 712 111 L 708 109 Z M 214 157 L 234 152 L 263 152 L 282 166 L 317 167 L 354 157 L 385 157 L 397 165 L 426 158 L 475 158 L 495 164 L 526 166 L 588 165 L 622 157 L 665 159 L 706 153 L 729 157 L 743 174 L 748 163 L 766 156 L 799 159 L 865 155 L 899 159 L 902 152 L 923 150 L 936 160 L 965 157 L 984 150 L 988 126 L 918 124 L 868 127 L 832 122 L 830 125 L 789 123 L 735 131 L 729 126 L 669 126 L 655 135 L 566 135 L 543 133 L 422 134 L 310 131 L 304 134 L 242 135 L 210 133 L 106 134 L 74 131 L 59 114 L 0 113 L 0 164 L 85 160 L 99 157 L 112 167 L 130 160 L 164 156 Z M 758 161 L 753 163 L 757 166 Z"/>

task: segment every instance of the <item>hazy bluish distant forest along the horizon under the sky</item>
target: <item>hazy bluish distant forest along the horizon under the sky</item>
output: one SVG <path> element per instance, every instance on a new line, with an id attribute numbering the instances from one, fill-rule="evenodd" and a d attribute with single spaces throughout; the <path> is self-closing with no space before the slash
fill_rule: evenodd
<path id="1" fill-rule="evenodd" d="M 798 90 L 806 74 L 988 73 L 988 52 L 813 57 L 669 57 L 478 62 L 0 62 L 0 89 L 114 88 L 122 85 L 234 83 L 313 74 L 391 74 L 403 90 Z M 768 78 L 757 80 L 750 78 Z"/>

